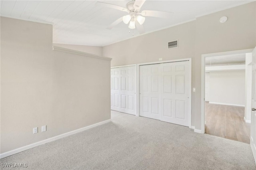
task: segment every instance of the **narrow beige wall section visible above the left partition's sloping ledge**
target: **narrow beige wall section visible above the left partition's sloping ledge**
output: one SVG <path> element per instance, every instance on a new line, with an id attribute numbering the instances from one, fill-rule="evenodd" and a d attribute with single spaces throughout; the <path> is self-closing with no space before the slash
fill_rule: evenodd
<path id="1" fill-rule="evenodd" d="M 82 52 L 102 56 L 102 47 L 98 47 L 98 46 L 71 45 L 71 44 L 61 44 L 61 43 L 53 43 L 53 45 L 57 47 L 63 47 L 63 48 L 73 49 L 76 51 L 82 51 Z"/>

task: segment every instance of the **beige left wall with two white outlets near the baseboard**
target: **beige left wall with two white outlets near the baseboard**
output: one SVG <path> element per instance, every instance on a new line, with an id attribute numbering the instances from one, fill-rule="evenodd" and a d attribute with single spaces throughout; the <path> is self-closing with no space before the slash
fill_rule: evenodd
<path id="1" fill-rule="evenodd" d="M 1 17 L 1 153 L 108 119 L 110 61 L 52 51 L 51 25 Z"/>

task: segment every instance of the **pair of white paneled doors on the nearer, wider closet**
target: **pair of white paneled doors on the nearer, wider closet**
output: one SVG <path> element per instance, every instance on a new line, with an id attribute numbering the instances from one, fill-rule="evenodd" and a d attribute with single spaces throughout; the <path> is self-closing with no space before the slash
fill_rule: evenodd
<path id="1" fill-rule="evenodd" d="M 140 116 L 189 125 L 189 62 L 140 66 Z"/>

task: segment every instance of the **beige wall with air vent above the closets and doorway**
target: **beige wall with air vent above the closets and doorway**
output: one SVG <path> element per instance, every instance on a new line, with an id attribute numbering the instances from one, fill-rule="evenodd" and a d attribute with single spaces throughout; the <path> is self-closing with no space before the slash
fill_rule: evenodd
<path id="1" fill-rule="evenodd" d="M 250 49 L 256 45 L 256 2 L 196 18 L 195 21 L 103 47 L 111 66 L 192 58 L 192 126 L 201 129 L 201 56 L 206 53 Z M 221 16 L 228 21 L 221 24 Z M 171 40 L 179 47 L 167 49 Z"/>

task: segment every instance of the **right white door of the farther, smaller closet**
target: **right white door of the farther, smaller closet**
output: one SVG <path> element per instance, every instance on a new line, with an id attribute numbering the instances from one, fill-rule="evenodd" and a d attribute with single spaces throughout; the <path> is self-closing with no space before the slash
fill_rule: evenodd
<path id="1" fill-rule="evenodd" d="M 136 115 L 136 66 L 120 67 L 120 112 Z"/>

